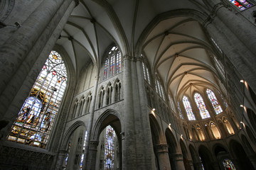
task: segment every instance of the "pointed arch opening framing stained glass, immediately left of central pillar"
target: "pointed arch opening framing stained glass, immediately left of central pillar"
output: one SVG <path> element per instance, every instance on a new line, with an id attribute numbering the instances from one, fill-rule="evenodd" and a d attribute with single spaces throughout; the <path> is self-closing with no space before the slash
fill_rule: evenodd
<path id="1" fill-rule="evenodd" d="M 100 115 L 90 138 L 87 169 L 122 169 L 122 128 L 118 114 L 107 110 Z"/>

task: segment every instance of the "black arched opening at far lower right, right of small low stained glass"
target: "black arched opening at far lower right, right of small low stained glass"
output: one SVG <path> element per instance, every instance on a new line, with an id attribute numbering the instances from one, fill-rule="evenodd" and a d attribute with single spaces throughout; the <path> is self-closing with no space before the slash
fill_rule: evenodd
<path id="1" fill-rule="evenodd" d="M 250 159 L 247 157 L 245 149 L 240 145 L 240 143 L 235 140 L 230 141 L 230 152 L 234 154 L 240 169 L 254 169 Z"/>

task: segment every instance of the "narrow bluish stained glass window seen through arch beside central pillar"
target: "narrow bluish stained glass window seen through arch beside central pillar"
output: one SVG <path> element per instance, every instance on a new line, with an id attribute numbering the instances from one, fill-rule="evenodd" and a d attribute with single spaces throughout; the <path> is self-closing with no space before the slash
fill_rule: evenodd
<path id="1" fill-rule="evenodd" d="M 108 125 L 105 141 L 104 169 L 114 169 L 114 129 Z"/>

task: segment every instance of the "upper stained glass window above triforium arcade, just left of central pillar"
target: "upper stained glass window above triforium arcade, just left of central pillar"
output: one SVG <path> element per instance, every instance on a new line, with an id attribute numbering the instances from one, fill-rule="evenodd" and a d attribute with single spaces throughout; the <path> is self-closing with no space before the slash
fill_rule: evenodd
<path id="1" fill-rule="evenodd" d="M 103 80 L 122 71 L 121 52 L 118 50 L 118 47 L 112 47 L 107 55 L 104 63 Z"/>

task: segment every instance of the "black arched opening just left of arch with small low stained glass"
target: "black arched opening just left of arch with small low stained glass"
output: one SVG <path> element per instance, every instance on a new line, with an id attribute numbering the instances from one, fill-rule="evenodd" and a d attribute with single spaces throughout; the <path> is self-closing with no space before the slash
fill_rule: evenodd
<path id="1" fill-rule="evenodd" d="M 203 166 L 203 169 L 205 170 L 213 170 L 213 166 L 211 164 L 212 156 L 210 155 L 210 151 L 204 147 L 201 146 L 198 149 L 199 157 L 201 158 L 201 163 Z"/>

